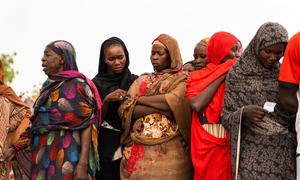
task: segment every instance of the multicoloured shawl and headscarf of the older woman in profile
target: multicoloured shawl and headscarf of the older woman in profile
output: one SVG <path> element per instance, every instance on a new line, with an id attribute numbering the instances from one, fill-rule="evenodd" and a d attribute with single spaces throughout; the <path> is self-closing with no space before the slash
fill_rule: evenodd
<path id="1" fill-rule="evenodd" d="M 43 84 L 40 95 L 34 104 L 31 133 L 43 134 L 60 129 L 81 130 L 92 125 L 93 149 L 91 151 L 95 156 L 96 167 L 99 168 L 97 128 L 101 123 L 102 102 L 97 88 L 91 80 L 78 72 L 75 49 L 69 42 L 54 41 L 47 47 L 63 55 L 66 63 L 64 71 L 51 75 L 51 79 L 47 79 Z M 87 86 L 83 89 L 83 86 L 76 86 L 76 82 Z M 64 88 L 64 93 L 59 94 L 60 88 Z M 93 97 L 92 102 L 89 101 L 89 97 Z M 70 104 L 68 100 L 74 98 L 78 103 Z M 54 100 L 57 102 L 52 102 Z M 59 109 L 64 110 L 60 111 Z"/>

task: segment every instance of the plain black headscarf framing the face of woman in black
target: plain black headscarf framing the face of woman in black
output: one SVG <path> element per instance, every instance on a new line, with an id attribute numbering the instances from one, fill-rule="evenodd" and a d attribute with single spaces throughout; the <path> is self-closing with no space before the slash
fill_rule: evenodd
<path id="1" fill-rule="evenodd" d="M 108 48 L 112 44 L 121 45 L 124 49 L 126 64 L 121 74 L 109 74 L 107 73 L 107 65 L 104 62 L 105 59 L 105 48 Z M 137 78 L 136 75 L 131 74 L 129 70 L 129 53 L 124 42 L 118 37 L 111 37 L 105 40 L 100 48 L 99 67 L 98 74 L 93 78 L 100 97 L 103 100 L 109 93 L 120 88 L 125 91 L 128 90 L 132 82 Z M 118 103 L 119 104 L 119 103 Z"/>

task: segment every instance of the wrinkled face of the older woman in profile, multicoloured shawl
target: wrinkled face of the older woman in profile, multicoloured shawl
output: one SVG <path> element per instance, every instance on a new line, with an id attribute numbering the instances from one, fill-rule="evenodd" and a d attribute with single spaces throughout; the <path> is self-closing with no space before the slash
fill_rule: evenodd
<path id="1" fill-rule="evenodd" d="M 43 71 L 47 76 L 56 74 L 64 70 L 65 59 L 46 47 L 42 58 Z"/>

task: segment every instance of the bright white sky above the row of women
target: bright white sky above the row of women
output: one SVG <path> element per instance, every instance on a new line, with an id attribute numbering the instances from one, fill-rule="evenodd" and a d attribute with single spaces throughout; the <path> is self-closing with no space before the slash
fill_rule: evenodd
<path id="1" fill-rule="evenodd" d="M 123 39 L 135 74 L 151 72 L 151 42 L 161 33 L 177 39 L 183 61 L 195 44 L 217 31 L 228 31 L 246 47 L 259 26 L 279 22 L 293 35 L 300 30 L 299 0 L 0 0 L 0 53 L 17 52 L 19 74 L 11 86 L 31 92 L 46 80 L 41 67 L 45 46 L 71 42 L 79 70 L 97 74 L 101 43 Z"/>

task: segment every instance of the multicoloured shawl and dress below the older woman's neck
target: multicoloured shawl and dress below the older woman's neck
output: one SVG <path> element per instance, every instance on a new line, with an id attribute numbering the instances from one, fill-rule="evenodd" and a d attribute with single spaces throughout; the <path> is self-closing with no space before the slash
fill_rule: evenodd
<path id="1" fill-rule="evenodd" d="M 99 168 L 101 100 L 94 84 L 78 71 L 51 76 L 42 87 L 32 117 L 32 178 L 72 178 L 79 161 L 80 131 L 92 127 L 89 172 Z"/>

